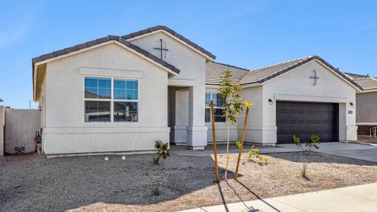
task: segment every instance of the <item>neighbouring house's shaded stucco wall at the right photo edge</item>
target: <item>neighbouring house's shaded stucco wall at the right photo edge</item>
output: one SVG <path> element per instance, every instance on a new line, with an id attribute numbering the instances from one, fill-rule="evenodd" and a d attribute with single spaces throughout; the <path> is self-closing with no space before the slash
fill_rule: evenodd
<path id="1" fill-rule="evenodd" d="M 356 106 L 357 123 L 377 123 L 377 92 L 356 93 Z"/>

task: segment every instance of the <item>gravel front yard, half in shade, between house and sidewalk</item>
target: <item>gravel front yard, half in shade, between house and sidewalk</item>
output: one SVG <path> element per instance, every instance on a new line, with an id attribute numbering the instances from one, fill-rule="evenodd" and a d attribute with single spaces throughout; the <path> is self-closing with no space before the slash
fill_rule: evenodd
<path id="1" fill-rule="evenodd" d="M 225 182 L 221 168 L 220 184 L 214 183 L 210 157 L 172 154 L 153 165 L 151 154 L 126 160 L 108 155 L 108 161 L 105 155 L 7 156 L 0 158 L 0 211 L 177 211 L 377 182 L 377 164 L 363 160 L 315 153 L 303 179 L 299 153 L 262 156 L 267 165 L 243 155 L 239 182 Z M 234 170 L 236 155 L 230 158 Z M 221 155 L 219 165 L 225 162 Z M 155 196 L 158 187 L 161 194 Z"/>

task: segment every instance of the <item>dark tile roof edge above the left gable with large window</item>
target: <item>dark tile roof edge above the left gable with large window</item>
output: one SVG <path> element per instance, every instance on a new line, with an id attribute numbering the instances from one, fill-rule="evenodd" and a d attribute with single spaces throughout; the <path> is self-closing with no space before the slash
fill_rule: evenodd
<path id="1" fill-rule="evenodd" d="M 54 57 L 59 57 L 59 56 L 62 56 L 64 54 L 76 52 L 76 51 L 79 51 L 81 49 L 86 49 L 88 47 L 92 47 L 92 46 L 95 46 L 95 45 L 100 45 L 103 42 L 109 42 L 109 41 L 112 41 L 112 40 L 120 42 L 123 45 L 126 45 L 127 47 L 134 49 L 135 51 L 139 52 L 140 54 L 143 54 L 145 57 L 152 59 L 156 63 L 165 66 L 166 68 L 170 69 L 171 71 L 174 71 L 175 73 L 180 73 L 180 70 L 175 68 L 175 66 L 168 64 L 166 61 L 159 59 L 158 57 L 154 56 L 153 54 L 150 54 L 146 50 L 141 49 L 137 45 L 133 45 L 132 43 L 128 42 L 127 40 L 124 40 L 124 38 L 122 38 L 120 36 L 115 36 L 115 35 L 108 35 L 107 37 L 101 37 L 101 38 L 98 38 L 96 40 L 91 40 L 91 41 L 88 41 L 88 42 L 81 43 L 79 45 L 75 45 L 73 47 L 68 47 L 68 48 L 65 48 L 65 49 L 61 49 L 59 51 L 51 52 L 49 54 L 43 54 L 40 57 L 33 58 L 33 76 L 34 76 L 34 64 L 35 63 L 39 63 L 39 62 L 45 61 L 47 59 L 52 59 Z"/>

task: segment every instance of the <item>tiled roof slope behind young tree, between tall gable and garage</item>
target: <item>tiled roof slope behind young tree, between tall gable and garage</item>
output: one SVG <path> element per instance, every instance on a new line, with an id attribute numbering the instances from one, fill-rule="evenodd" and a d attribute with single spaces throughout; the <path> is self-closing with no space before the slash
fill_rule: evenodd
<path id="1" fill-rule="evenodd" d="M 231 66 L 227 64 L 220 64 L 220 63 L 208 63 L 206 66 L 206 84 L 208 85 L 219 85 L 221 82 L 221 75 L 224 71 L 232 69 L 233 70 L 233 78 L 234 82 L 238 82 L 243 78 L 243 76 L 248 73 L 248 69 L 242 69 L 236 66 Z"/>

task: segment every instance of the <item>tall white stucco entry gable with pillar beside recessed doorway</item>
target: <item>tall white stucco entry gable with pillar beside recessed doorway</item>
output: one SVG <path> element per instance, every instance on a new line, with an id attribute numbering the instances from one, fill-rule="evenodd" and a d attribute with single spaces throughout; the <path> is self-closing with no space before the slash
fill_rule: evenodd
<path id="1" fill-rule="evenodd" d="M 182 95 L 177 96 L 176 101 L 182 102 L 177 102 L 176 105 L 185 105 L 188 100 L 189 109 L 182 112 L 187 112 L 185 116 L 190 117 L 190 122 L 188 126 L 176 122 L 178 124 L 171 127 L 173 130 L 171 134 L 175 136 L 175 140 L 178 142 L 187 141 L 188 146 L 203 148 L 207 145 L 207 127 L 204 123 L 206 58 L 190 49 L 190 47 L 183 45 L 179 40 L 161 32 L 129 41 L 160 58 L 160 50 L 154 49 L 155 47 L 160 47 L 160 39 L 166 42 L 166 48 L 168 49 L 167 52 L 163 53 L 163 55 L 166 54 L 163 60 L 180 69 L 178 76 L 169 77 L 169 86 L 189 87 L 188 99 L 183 99 L 185 97 L 181 93 Z M 180 117 L 176 118 L 180 119 Z"/>

